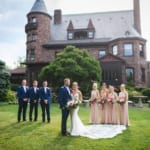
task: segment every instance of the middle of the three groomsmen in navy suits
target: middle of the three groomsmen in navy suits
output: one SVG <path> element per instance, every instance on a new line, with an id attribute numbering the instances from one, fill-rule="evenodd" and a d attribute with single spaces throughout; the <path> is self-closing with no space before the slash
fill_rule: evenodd
<path id="1" fill-rule="evenodd" d="M 37 121 L 38 101 L 39 101 L 38 81 L 36 80 L 33 81 L 33 86 L 29 88 L 28 95 L 30 99 L 29 120 L 32 121 L 32 112 L 34 109 L 34 121 Z"/>

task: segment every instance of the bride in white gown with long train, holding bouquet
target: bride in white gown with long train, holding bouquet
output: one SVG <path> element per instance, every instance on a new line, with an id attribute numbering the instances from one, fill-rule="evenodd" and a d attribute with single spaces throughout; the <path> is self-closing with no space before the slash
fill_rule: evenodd
<path id="1" fill-rule="evenodd" d="M 79 118 L 78 104 L 82 102 L 82 93 L 78 89 L 78 83 L 73 82 L 72 84 L 72 101 L 69 106 L 70 109 L 70 117 L 71 117 L 71 128 L 70 135 L 71 136 L 83 136 L 92 139 L 99 138 L 112 138 L 119 133 L 122 133 L 123 130 L 126 129 L 123 125 L 84 125 Z"/>

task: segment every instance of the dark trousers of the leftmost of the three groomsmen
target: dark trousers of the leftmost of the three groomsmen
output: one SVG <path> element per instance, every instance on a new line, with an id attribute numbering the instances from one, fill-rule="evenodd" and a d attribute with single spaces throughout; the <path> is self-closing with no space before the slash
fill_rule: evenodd
<path id="1" fill-rule="evenodd" d="M 23 100 L 22 100 L 23 101 Z M 18 121 L 21 120 L 21 113 L 23 111 L 23 121 L 26 121 L 26 111 L 27 111 L 28 102 L 19 102 L 18 107 Z"/>

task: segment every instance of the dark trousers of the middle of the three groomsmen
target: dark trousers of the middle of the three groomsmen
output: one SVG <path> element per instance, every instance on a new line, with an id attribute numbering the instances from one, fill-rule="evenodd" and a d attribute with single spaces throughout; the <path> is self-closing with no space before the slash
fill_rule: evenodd
<path id="1" fill-rule="evenodd" d="M 38 102 L 30 102 L 29 120 L 32 121 L 32 113 L 34 110 L 34 121 L 37 121 L 38 117 Z"/>

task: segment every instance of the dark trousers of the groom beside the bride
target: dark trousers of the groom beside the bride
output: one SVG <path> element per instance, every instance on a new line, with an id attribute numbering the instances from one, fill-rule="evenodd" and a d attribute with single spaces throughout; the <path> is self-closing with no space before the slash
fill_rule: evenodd
<path id="1" fill-rule="evenodd" d="M 61 120 L 61 133 L 65 134 L 67 132 L 66 126 L 67 126 L 67 118 L 69 115 L 69 110 L 67 108 L 62 109 L 62 120 Z"/>

